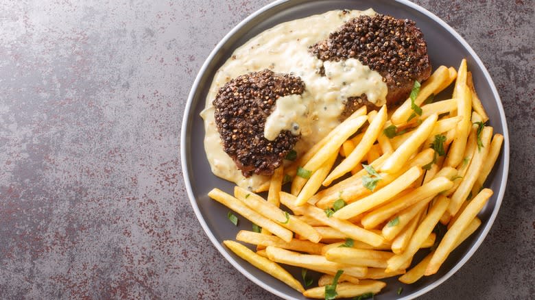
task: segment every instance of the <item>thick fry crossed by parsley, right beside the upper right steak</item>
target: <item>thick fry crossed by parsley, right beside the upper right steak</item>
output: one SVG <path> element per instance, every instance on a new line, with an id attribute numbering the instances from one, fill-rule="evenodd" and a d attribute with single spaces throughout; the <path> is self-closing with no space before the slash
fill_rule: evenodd
<path id="1" fill-rule="evenodd" d="M 414 99 L 416 105 L 421 105 L 427 97 L 442 87 L 445 82 L 449 81 L 449 69 L 445 66 L 440 66 L 431 74 L 420 88 L 418 96 Z M 407 119 L 412 114 L 411 99 L 407 99 L 401 106 L 392 114 L 392 124 L 401 125 L 407 122 Z"/>

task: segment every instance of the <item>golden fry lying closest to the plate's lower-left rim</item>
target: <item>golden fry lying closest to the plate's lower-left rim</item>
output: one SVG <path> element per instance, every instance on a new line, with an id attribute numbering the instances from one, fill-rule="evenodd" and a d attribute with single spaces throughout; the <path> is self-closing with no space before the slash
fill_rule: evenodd
<path id="1" fill-rule="evenodd" d="M 236 255 L 238 255 L 240 258 L 243 258 L 243 260 L 246 260 L 253 266 L 256 266 L 265 273 L 272 275 L 276 279 L 281 280 L 281 282 L 284 282 L 295 290 L 298 290 L 299 292 L 305 292 L 305 288 L 302 287 L 300 282 L 298 282 L 298 280 L 288 273 L 283 267 L 276 264 L 276 262 L 272 262 L 267 258 L 263 258 L 261 255 L 258 255 L 247 247 L 241 245 L 239 242 L 225 240 L 223 243 L 226 247 L 228 247 L 228 249 L 236 253 Z"/>

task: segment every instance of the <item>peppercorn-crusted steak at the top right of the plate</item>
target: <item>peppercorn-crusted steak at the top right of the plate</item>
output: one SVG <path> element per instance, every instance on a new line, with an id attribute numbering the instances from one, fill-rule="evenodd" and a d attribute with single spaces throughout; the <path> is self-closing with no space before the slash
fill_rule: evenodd
<path id="1" fill-rule="evenodd" d="M 351 19 L 313 45 L 311 52 L 324 61 L 355 58 L 377 71 L 388 86 L 387 104 L 407 99 L 414 81 L 422 82 L 431 75 L 427 44 L 416 23 L 384 14 Z M 366 95 L 351 97 L 341 118 L 362 105 L 377 109 Z"/>

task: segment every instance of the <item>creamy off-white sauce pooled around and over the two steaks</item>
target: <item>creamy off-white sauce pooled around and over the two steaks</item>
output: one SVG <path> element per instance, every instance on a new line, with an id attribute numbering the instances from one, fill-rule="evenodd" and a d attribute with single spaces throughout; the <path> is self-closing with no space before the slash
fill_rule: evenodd
<path id="1" fill-rule="evenodd" d="M 239 75 L 269 68 L 276 73 L 298 76 L 305 82 L 302 95 L 277 99 L 274 111 L 266 120 L 264 132 L 268 140 L 274 140 L 281 130 L 301 134 L 302 138 L 295 147 L 298 154 L 340 123 L 338 117 L 348 97 L 366 94 L 368 101 L 377 106 L 386 102 L 388 88 L 376 71 L 353 58 L 341 62 L 322 62 L 309 53 L 309 46 L 328 38 L 331 32 L 350 18 L 362 14 L 371 16 L 375 12 L 372 9 L 346 13 L 333 10 L 289 21 L 262 32 L 236 49 L 215 73 L 206 97 L 206 108 L 201 112 L 206 131 L 204 150 L 215 175 L 252 190 L 269 179 L 261 175 L 243 177 L 232 158 L 224 152 L 217 132 L 212 101 L 219 88 Z M 324 77 L 318 74 L 322 64 Z"/>

